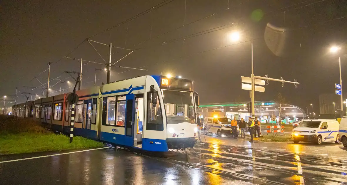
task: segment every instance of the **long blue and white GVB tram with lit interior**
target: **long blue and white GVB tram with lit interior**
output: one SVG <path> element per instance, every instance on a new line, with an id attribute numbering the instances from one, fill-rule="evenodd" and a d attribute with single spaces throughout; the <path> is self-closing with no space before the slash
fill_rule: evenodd
<path id="1" fill-rule="evenodd" d="M 74 135 L 147 151 L 193 147 L 197 140 L 194 81 L 143 76 L 76 91 Z M 68 94 L 37 99 L 33 116 L 70 132 Z"/>

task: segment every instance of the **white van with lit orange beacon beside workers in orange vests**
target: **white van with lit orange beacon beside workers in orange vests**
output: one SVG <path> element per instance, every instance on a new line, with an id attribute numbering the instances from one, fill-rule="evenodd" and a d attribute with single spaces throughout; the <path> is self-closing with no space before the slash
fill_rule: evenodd
<path id="1" fill-rule="evenodd" d="M 227 117 L 205 117 L 203 125 L 204 135 L 217 134 L 221 136 L 231 136 L 231 119 Z M 239 134 L 239 125 L 237 124 L 237 134 Z"/>

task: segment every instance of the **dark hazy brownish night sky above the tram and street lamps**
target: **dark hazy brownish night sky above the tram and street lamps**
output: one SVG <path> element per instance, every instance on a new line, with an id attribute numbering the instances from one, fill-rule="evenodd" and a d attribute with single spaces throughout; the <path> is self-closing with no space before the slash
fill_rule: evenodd
<path id="1" fill-rule="evenodd" d="M 107 30 L 161 2 L 166 5 Z M 135 50 L 117 65 L 148 70 L 124 72 L 113 67 L 111 81 L 161 72 L 180 75 L 195 80 L 201 103 L 250 101 L 248 91 L 240 89 L 240 76 L 251 76 L 251 41 L 255 75 L 268 74 L 270 78 L 300 82 L 295 89 L 289 83 L 281 87 L 280 82 L 270 81 L 264 93 L 255 94 L 256 100 L 273 100 L 281 92 L 291 104 L 306 109 L 313 103 L 319 111 L 319 94 L 333 93 L 334 84 L 339 83 L 338 56 L 341 56 L 342 82 L 347 84 L 345 0 L 2 0 L 0 3 L 0 95 L 14 99 L 10 95 L 18 87 L 18 103 L 25 101 L 22 92 L 42 95 L 42 89 L 31 91 L 32 88 L 23 86 L 40 86 L 35 76 L 46 83 L 48 71 L 43 71 L 48 62 L 53 62 L 51 79 L 60 76 L 58 79 L 63 81 L 71 81 L 64 71 L 79 71 L 79 61 L 64 58 L 67 54 L 104 63 L 85 41 L 96 34 L 90 39 Z M 233 32 L 241 34 L 240 41 L 230 40 L 229 34 Z M 92 44 L 108 61 L 109 47 Z M 341 47 L 339 54 L 329 53 L 332 45 Z M 114 63 L 129 51 L 112 48 L 112 53 Z M 84 64 L 82 87 L 92 87 L 95 68 L 103 69 L 105 65 Z M 97 85 L 106 82 L 106 72 L 98 71 L 97 79 Z M 50 86 L 57 82 L 51 81 Z M 59 90 L 59 85 L 53 86 L 52 92 Z M 62 83 L 62 89 L 68 87 Z M 9 103 L 6 107 L 10 106 Z"/>

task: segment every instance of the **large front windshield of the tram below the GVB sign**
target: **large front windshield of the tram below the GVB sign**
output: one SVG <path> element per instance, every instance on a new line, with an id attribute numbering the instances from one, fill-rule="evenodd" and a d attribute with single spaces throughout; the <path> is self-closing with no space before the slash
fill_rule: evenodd
<path id="1" fill-rule="evenodd" d="M 188 122 L 195 124 L 192 92 L 164 90 L 163 99 L 168 124 Z"/>

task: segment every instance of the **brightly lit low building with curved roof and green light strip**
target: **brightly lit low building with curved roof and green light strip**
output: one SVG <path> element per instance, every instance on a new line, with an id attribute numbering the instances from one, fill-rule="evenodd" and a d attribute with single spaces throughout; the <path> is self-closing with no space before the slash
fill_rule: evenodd
<path id="1" fill-rule="evenodd" d="M 281 120 L 285 123 L 293 122 L 293 120 L 308 118 L 302 108 L 290 104 L 280 106 L 280 104 L 276 101 L 255 102 L 255 116 L 257 116 L 263 123 L 270 123 L 273 117 L 275 117 L 275 119 L 278 121 L 280 107 Z M 200 118 L 218 115 L 232 119 L 236 117 L 237 120 L 240 120 L 242 117 L 248 121 L 248 117 L 251 116 L 250 110 L 250 102 L 231 102 L 201 104 L 197 112 L 200 113 Z"/>

